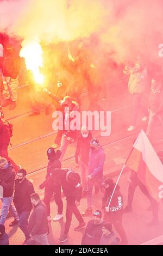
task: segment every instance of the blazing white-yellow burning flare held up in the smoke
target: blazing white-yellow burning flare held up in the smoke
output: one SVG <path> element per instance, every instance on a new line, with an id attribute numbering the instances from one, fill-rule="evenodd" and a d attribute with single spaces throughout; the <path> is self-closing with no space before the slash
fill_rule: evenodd
<path id="1" fill-rule="evenodd" d="M 35 82 L 42 84 L 44 77 L 40 73 L 43 64 L 41 45 L 34 41 L 24 44 L 20 51 L 20 57 L 24 57 L 26 68 L 33 72 Z"/>

